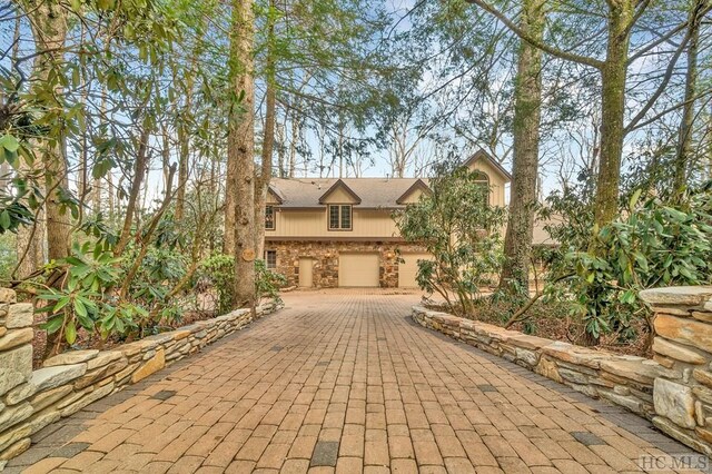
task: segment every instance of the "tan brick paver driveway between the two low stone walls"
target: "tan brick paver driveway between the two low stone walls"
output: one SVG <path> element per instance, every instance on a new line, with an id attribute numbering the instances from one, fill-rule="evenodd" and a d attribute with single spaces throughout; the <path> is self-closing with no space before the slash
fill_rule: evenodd
<path id="1" fill-rule="evenodd" d="M 690 451 L 415 326 L 415 295 L 309 292 L 37 436 L 9 471 L 637 471 Z"/>

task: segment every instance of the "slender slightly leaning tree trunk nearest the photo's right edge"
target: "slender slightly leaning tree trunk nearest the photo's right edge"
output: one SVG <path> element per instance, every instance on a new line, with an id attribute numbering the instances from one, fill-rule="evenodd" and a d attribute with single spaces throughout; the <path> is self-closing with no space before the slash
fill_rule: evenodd
<path id="1" fill-rule="evenodd" d="M 694 105 L 698 80 L 698 45 L 700 42 L 700 22 L 702 21 L 700 10 L 704 1 L 694 2 L 690 11 L 688 36 L 688 71 L 685 75 L 685 98 L 682 107 L 682 120 L 680 121 L 680 138 L 675 152 L 674 175 L 673 175 L 673 200 L 679 200 L 684 194 L 688 182 L 688 160 L 692 148 L 692 130 L 694 125 Z"/>

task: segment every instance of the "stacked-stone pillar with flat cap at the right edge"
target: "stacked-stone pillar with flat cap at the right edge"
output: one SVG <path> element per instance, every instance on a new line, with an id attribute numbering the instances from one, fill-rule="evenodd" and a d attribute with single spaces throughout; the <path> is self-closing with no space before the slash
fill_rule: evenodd
<path id="1" fill-rule="evenodd" d="M 653 423 L 712 455 L 712 287 L 647 289 L 641 298 L 654 312 L 653 358 L 682 374 L 655 378 Z"/>

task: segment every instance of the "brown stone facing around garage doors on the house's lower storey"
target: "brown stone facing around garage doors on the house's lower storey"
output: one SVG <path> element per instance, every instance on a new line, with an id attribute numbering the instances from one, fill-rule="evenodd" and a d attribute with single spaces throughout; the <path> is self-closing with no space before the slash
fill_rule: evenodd
<path id="1" fill-rule="evenodd" d="M 398 253 L 423 253 L 419 245 L 389 241 L 275 240 L 265 244 L 266 250 L 277 251 L 276 270 L 287 277 L 287 286 L 299 285 L 299 258 L 314 258 L 314 286 L 338 287 L 338 256 L 342 251 L 379 254 L 379 286 L 398 286 Z"/>

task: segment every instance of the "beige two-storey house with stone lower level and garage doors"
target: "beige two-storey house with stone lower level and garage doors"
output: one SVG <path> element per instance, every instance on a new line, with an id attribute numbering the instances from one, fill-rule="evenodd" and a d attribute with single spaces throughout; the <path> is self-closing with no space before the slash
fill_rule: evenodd
<path id="1" fill-rule="evenodd" d="M 484 151 L 464 165 L 490 186 L 490 204 L 504 206 L 510 174 Z M 267 266 L 300 287 L 416 287 L 417 260 L 428 255 L 399 236 L 392 215 L 428 191 L 418 178 L 275 178 Z"/>

